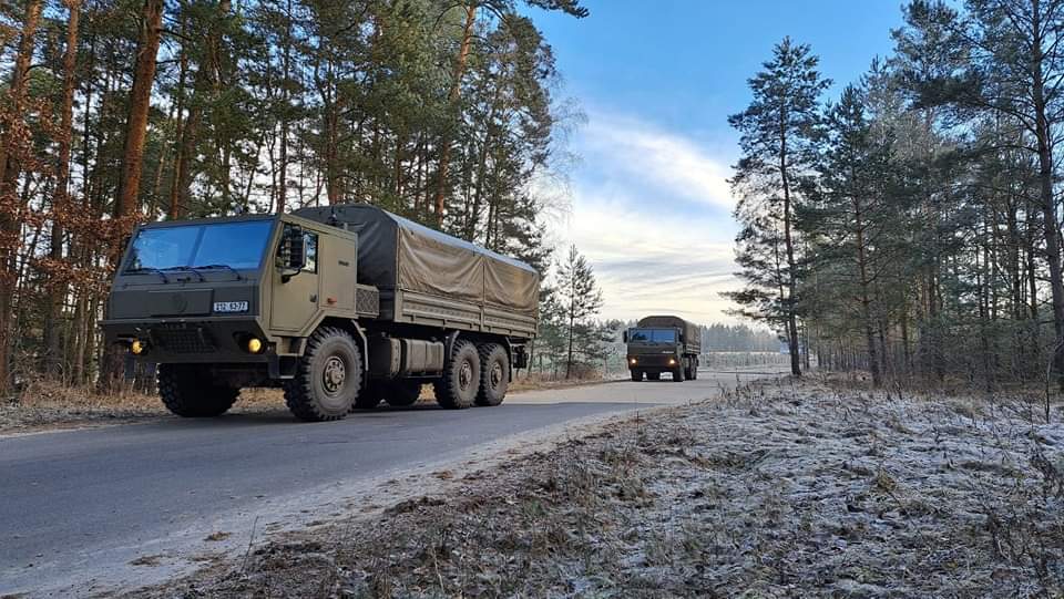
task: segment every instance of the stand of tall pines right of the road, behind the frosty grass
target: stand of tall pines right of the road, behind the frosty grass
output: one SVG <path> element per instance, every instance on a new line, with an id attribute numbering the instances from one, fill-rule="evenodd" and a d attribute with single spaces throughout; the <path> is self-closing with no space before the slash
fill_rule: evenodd
<path id="1" fill-rule="evenodd" d="M 825 101 L 785 39 L 733 115 L 740 313 L 874 384 L 1064 376 L 1064 1 L 914 0 Z M 1061 379 L 1064 384 L 1064 379 Z"/>

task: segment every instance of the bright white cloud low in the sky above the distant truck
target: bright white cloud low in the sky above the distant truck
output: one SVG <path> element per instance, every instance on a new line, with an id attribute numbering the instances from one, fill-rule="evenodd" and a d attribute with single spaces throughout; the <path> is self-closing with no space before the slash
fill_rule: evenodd
<path id="1" fill-rule="evenodd" d="M 538 182 L 536 193 L 555 208 L 549 210 L 549 239 L 556 258 L 572 242 L 591 261 L 605 297 L 601 316 L 736 321 L 720 297 L 740 285 L 728 162 L 693 138 L 602 112 L 575 137 L 581 165 L 572 180 Z"/>

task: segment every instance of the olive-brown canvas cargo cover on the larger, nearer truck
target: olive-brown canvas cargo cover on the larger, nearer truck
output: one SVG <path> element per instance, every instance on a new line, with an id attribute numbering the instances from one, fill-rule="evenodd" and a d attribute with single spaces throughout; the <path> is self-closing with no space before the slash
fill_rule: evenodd
<path id="1" fill-rule="evenodd" d="M 358 282 L 534 317 L 532 267 L 365 204 L 303 208 L 296 216 L 358 234 Z"/>

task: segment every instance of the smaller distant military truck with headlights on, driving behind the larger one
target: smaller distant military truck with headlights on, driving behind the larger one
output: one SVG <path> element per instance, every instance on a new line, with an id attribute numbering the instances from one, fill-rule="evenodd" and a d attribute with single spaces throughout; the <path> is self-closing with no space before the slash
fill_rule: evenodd
<path id="1" fill-rule="evenodd" d="M 633 381 L 642 381 L 644 374 L 657 381 L 663 372 L 671 372 L 677 383 L 698 378 L 702 332 L 697 324 L 679 317 L 646 317 L 624 332 L 624 342 Z"/>

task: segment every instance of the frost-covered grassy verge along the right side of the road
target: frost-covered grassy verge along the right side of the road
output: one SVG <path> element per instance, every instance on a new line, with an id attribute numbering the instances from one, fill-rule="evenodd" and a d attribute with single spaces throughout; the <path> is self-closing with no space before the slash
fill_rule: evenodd
<path id="1" fill-rule="evenodd" d="M 1037 413 L 1037 412 L 1036 412 Z M 763 383 L 268 541 L 150 596 L 1064 593 L 1064 411 Z"/>

